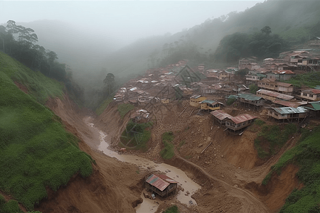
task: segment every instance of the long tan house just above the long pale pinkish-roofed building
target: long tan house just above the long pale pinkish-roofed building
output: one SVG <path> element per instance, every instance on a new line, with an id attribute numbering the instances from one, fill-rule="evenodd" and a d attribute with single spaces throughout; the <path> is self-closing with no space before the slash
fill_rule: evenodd
<path id="1" fill-rule="evenodd" d="M 291 95 L 294 91 L 294 86 L 292 84 L 287 84 L 284 82 L 275 82 L 272 79 L 262 79 L 260 82 L 257 82 L 257 86 L 260 89 L 267 89 L 274 92 L 279 92 L 283 94 Z"/>

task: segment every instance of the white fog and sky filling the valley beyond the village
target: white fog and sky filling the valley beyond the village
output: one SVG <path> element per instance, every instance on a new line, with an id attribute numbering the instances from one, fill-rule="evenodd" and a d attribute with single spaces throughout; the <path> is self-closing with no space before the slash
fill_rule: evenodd
<path id="1" fill-rule="evenodd" d="M 199 48 L 210 46 L 213 51 L 229 32 L 218 30 L 207 33 L 206 39 L 196 38 L 198 26 L 261 2 L 0 1 L 0 23 L 6 26 L 13 20 L 32 28 L 38 44 L 55 51 L 58 62 L 68 64 L 73 79 L 88 92 L 103 86 L 107 72 L 122 81 L 144 72 L 154 66 L 148 62 L 151 53 L 160 54 L 165 43 L 185 35 L 192 34 L 189 41 L 196 40 Z"/>

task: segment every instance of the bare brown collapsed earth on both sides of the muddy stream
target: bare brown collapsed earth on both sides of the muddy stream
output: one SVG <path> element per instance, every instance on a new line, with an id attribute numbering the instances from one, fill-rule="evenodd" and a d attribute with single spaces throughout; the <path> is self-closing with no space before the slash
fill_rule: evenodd
<path id="1" fill-rule="evenodd" d="M 90 178 L 75 177 L 67 187 L 50 193 L 48 200 L 37 209 L 56 212 L 58 204 L 59 211 L 63 212 L 92 212 L 92 209 L 95 212 L 134 212 L 134 207 L 142 202 L 140 195 L 144 178 L 151 170 L 140 170 L 138 174 L 137 166 L 97 151 L 99 136 L 83 120 L 87 114 L 94 115 L 77 109 L 68 97 L 50 99 L 47 105 L 60 116 L 66 129 L 82 139 L 80 148 L 89 153 L 97 165 Z M 183 109 L 186 110 L 181 114 Z M 231 107 L 225 111 L 235 116 L 245 109 Z M 270 167 L 288 147 L 294 145 L 298 137 L 289 140 L 282 151 L 261 163 L 253 145 L 255 131 L 247 129 L 242 136 L 231 135 L 214 125 L 210 114 L 196 114 L 188 101 L 172 102 L 166 106 L 159 104 L 151 113 L 154 125 L 149 150 L 146 153 L 129 151 L 127 154 L 174 165 L 201 185 L 201 190 L 193 195 L 198 206 L 186 207 L 176 200 L 169 200 L 161 204 L 157 212 L 171 204 L 178 204 L 186 212 L 277 212 L 290 192 L 301 186 L 295 176 L 298 168 L 294 165 L 288 165 L 279 176 L 272 175 L 268 185 L 261 185 Z M 263 109 L 250 113 L 266 119 Z M 117 105 L 112 103 L 93 121 L 98 129 L 107 133 L 107 141 L 116 150 L 129 114 L 121 119 Z M 161 134 L 166 131 L 173 131 L 176 135 L 173 141 L 176 147 L 180 144 L 171 160 L 163 160 L 159 154 L 163 146 Z M 212 144 L 200 154 L 209 142 Z"/>

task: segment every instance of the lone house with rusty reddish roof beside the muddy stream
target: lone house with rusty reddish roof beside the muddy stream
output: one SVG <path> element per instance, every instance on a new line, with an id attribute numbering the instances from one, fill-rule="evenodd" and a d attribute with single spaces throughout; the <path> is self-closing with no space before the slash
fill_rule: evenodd
<path id="1" fill-rule="evenodd" d="M 150 175 L 146 178 L 145 182 L 146 190 L 151 190 L 151 193 L 156 192 L 156 194 L 161 197 L 168 196 L 171 192 L 175 192 L 178 187 L 178 182 L 172 180 L 166 175 Z"/>

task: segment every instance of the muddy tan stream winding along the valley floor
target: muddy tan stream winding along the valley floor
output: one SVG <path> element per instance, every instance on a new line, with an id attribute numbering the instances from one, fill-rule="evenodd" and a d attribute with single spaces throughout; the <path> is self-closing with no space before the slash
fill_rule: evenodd
<path id="1" fill-rule="evenodd" d="M 106 134 L 103 131 L 100 131 L 99 129 L 96 129 L 94 124 L 86 122 L 92 129 L 95 129 L 96 131 L 99 131 L 100 133 L 100 146 L 98 147 L 99 151 L 102 151 L 105 153 L 105 155 L 108 155 L 112 158 L 117 158 L 117 160 L 132 163 L 134 165 L 137 165 L 139 168 L 142 169 L 149 169 L 154 171 L 161 171 L 163 173 L 166 173 L 167 176 L 170 178 L 176 180 L 178 182 L 178 185 L 180 185 L 183 188 L 183 192 L 179 190 L 179 192 L 174 195 L 176 199 L 188 206 L 192 204 L 196 205 L 196 200 L 193 200 L 191 198 L 191 195 L 193 195 L 196 190 L 200 189 L 200 185 L 198 185 L 196 182 L 193 182 L 186 173 L 184 173 L 182 170 L 175 168 L 171 165 L 165 164 L 165 163 L 154 163 L 151 160 L 147 160 L 145 158 L 141 158 L 139 156 L 135 155 L 127 155 L 127 154 L 119 154 L 115 151 L 111 151 L 108 147 L 109 144 L 105 141 Z M 189 192 L 187 194 L 186 192 Z M 149 198 L 145 198 L 142 193 L 142 199 L 144 200 L 142 204 L 139 204 L 136 207 L 136 212 L 142 213 L 142 212 L 156 212 L 156 209 L 159 207 L 159 204 L 162 202 L 159 199 L 159 195 L 156 195 L 156 200 L 150 200 Z"/>

